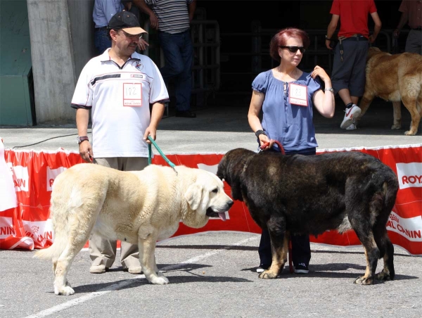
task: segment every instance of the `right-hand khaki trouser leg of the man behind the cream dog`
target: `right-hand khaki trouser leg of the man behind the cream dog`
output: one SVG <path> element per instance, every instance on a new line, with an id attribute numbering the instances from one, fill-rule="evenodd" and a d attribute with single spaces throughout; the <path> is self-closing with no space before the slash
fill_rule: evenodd
<path id="1" fill-rule="evenodd" d="M 119 158 L 123 171 L 140 171 L 148 165 L 148 158 L 129 157 Z M 120 242 L 120 263 L 123 269 L 131 274 L 141 274 L 138 244 Z"/>

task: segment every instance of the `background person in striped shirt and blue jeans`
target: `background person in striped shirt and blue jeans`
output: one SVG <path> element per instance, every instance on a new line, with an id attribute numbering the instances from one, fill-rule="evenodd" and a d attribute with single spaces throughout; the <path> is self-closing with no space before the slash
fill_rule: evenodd
<path id="1" fill-rule="evenodd" d="M 174 81 L 176 117 L 196 117 L 191 111 L 193 45 L 190 23 L 196 0 L 134 0 L 150 17 L 151 27 L 158 30 L 158 40 L 165 57 L 160 68 L 165 82 Z"/>

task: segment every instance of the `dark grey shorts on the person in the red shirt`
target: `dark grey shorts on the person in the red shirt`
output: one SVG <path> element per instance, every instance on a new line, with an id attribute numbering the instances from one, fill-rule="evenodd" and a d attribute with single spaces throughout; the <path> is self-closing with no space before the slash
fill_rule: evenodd
<path id="1" fill-rule="evenodd" d="M 340 89 L 349 89 L 350 96 L 362 96 L 365 88 L 365 67 L 368 54 L 368 40 L 345 39 L 343 44 L 343 62 L 340 60 L 340 43 L 335 46 L 331 83 L 335 93 Z"/>

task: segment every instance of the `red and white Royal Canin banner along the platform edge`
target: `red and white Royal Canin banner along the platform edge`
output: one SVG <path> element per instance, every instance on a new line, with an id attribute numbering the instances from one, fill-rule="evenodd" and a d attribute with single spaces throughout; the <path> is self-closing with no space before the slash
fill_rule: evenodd
<path id="1" fill-rule="evenodd" d="M 2 144 L 0 146 L 3 147 Z M 392 243 L 401 246 L 409 254 L 422 255 L 422 145 L 329 149 L 318 151 L 317 154 L 333 151 L 368 153 L 392 168 L 399 179 L 399 191 L 387 224 L 388 235 Z M 223 155 L 224 153 L 174 154 L 167 155 L 167 158 L 175 165 L 186 165 L 215 173 Z M 1 170 L 1 160 L 5 160 L 8 167 L 6 172 Z M 17 206 L 5 208 L 0 201 L 1 249 L 51 246 L 54 239 L 49 219 L 51 185 L 60 172 L 77 163 L 82 163 L 82 159 L 76 152 L 4 151 L 4 158 L 3 155 L 0 158 L 0 179 L 13 180 Z M 167 165 L 160 155 L 155 155 L 153 164 Z M 230 195 L 230 187 L 227 184 L 225 191 Z M 260 227 L 250 217 L 248 209 L 239 201 L 235 201 L 229 212 L 226 212 L 226 219 L 226 222 L 218 218 L 211 219 L 200 229 L 180 224 L 174 236 L 205 231 L 261 233 Z M 360 245 L 354 231 L 347 231 L 343 235 L 337 231 L 326 231 L 317 238 L 311 236 L 311 241 L 338 246 Z"/>

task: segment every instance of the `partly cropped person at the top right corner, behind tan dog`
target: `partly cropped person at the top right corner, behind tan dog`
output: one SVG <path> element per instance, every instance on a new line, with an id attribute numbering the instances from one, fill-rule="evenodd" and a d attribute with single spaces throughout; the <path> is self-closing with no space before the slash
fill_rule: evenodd
<path id="1" fill-rule="evenodd" d="M 399 11 L 402 15 L 393 36 L 399 37 L 400 30 L 408 22 L 411 30 L 407 35 L 404 51 L 422 54 L 422 0 L 402 0 Z"/>

